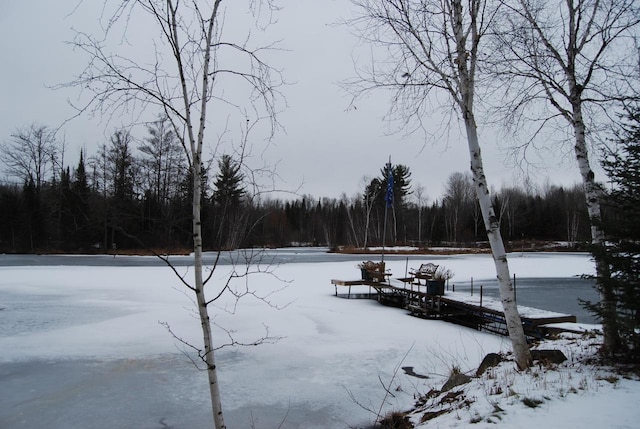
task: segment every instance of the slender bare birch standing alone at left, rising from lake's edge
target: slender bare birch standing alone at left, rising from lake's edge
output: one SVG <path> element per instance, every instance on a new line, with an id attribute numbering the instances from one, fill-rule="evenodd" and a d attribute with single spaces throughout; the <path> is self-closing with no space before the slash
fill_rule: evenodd
<path id="1" fill-rule="evenodd" d="M 262 6 L 266 6 L 263 13 L 270 14 L 275 10 L 270 0 L 246 2 L 246 7 L 255 12 L 254 17 Z M 108 12 L 109 7 L 115 8 L 113 13 Z M 270 123 L 268 132 L 273 133 L 278 125 L 275 119 L 280 100 L 277 88 L 282 83 L 279 72 L 263 59 L 272 46 L 253 47 L 248 36 L 251 34 L 249 27 L 241 30 L 240 36 L 236 33 L 240 42 L 226 35 L 227 30 L 238 30 L 233 23 L 229 24 L 233 18 L 240 17 L 240 22 L 244 20 L 246 24 L 247 17 L 252 16 L 248 10 L 239 8 L 239 2 L 233 2 L 225 11 L 222 0 L 105 2 L 105 34 L 96 38 L 77 33 L 73 45 L 88 56 L 89 62 L 77 78 L 63 85 L 78 87 L 85 94 L 90 94 L 89 101 L 79 107 L 81 112 L 108 118 L 116 118 L 124 112 L 133 114 L 135 120 L 138 115 L 143 115 L 145 109 L 154 110 L 154 114 L 160 111 L 170 121 L 185 150 L 193 190 L 193 278 L 189 280 L 179 276 L 193 292 L 197 303 L 203 345 L 194 349 L 206 366 L 213 421 L 217 429 L 226 426 L 214 356 L 219 346 L 214 342 L 209 309 L 225 292 L 237 298 L 238 294 L 231 290 L 231 280 L 249 270 L 245 273 L 234 271 L 228 281 L 218 285 L 213 292 L 207 293 L 208 289 L 205 289 L 216 267 L 214 262 L 209 267 L 208 276 L 205 276 L 201 196 L 206 184 L 202 183 L 201 166 L 205 144 L 215 141 L 207 129 L 225 132 L 231 116 L 228 112 L 232 111 L 242 116 L 243 130 L 267 118 Z M 269 16 L 267 20 L 270 19 Z M 150 29 L 151 38 L 146 37 L 145 41 L 152 41 L 142 48 L 135 45 L 133 34 L 140 28 Z M 232 38 L 229 40 L 227 37 Z M 119 40 L 119 44 L 112 50 L 109 42 L 114 39 Z M 145 56 L 147 53 L 151 56 Z M 239 88 L 244 88 L 244 92 L 231 99 L 234 91 L 240 91 Z M 215 106 L 213 116 L 210 114 L 212 105 Z M 269 338 L 268 333 L 261 340 L 266 338 Z M 237 344 L 233 339 L 229 341 Z"/>

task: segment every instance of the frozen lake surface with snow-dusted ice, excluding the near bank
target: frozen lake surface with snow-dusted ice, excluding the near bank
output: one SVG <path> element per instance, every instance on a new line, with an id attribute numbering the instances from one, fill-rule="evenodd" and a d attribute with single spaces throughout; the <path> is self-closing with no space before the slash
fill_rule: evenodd
<path id="1" fill-rule="evenodd" d="M 241 253 L 225 254 L 211 292 Z M 418 374 L 475 369 L 489 352 L 509 350 L 505 338 L 440 321 L 412 318 L 375 301 L 333 296 L 332 278 L 354 279 L 356 264 L 372 255 L 327 254 L 324 249 L 280 249 L 251 254 L 252 297 L 237 306 L 218 302 L 214 323 L 222 345 L 227 331 L 258 347 L 218 354 L 223 408 L 230 428 L 366 427 L 399 365 Z M 593 273 L 587 254 L 510 255 L 518 302 L 578 315 L 577 298 L 597 299 L 582 274 Z M 208 256 L 211 261 L 212 255 Z M 190 278 L 189 258 L 172 257 Z M 396 277 L 422 262 L 452 269 L 456 291 L 480 284 L 497 293 L 488 255 L 386 255 Z M 234 264 L 236 262 L 237 264 Z M 238 263 L 240 262 L 240 263 Z M 205 428 L 211 426 L 206 374 L 159 323 L 200 344 L 191 297 L 153 257 L 0 255 L 0 428 Z M 245 290 L 244 279 L 234 288 Z M 276 308 L 277 307 L 277 308 Z M 405 356 L 406 355 L 406 356 Z M 398 390 L 385 410 L 405 409 L 429 380 L 399 371 Z M 424 392 L 423 392 L 424 393 Z M 360 404 L 357 405 L 356 401 Z M 597 426 L 594 426 L 597 427 Z"/>

